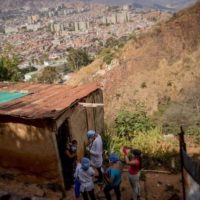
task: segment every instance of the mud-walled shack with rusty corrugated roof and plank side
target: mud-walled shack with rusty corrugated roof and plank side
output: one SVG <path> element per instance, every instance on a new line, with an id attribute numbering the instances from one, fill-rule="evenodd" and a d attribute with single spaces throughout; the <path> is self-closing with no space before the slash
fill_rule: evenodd
<path id="1" fill-rule="evenodd" d="M 81 158 L 86 131 L 101 134 L 103 118 L 102 90 L 95 83 L 71 87 L 1 82 L 0 168 L 64 186 L 66 143 L 76 139 Z"/>

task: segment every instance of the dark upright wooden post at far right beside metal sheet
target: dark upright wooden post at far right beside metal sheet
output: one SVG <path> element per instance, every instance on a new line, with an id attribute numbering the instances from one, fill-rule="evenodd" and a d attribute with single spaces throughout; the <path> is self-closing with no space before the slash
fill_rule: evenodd
<path id="1" fill-rule="evenodd" d="M 179 133 L 179 144 L 180 144 L 180 158 L 181 158 L 181 176 L 182 176 L 182 189 L 183 189 L 183 200 L 185 200 L 185 178 L 184 178 L 184 162 L 183 162 L 183 153 L 182 150 L 186 152 L 186 144 L 184 138 L 184 130 L 183 127 L 180 127 L 181 132 Z"/>

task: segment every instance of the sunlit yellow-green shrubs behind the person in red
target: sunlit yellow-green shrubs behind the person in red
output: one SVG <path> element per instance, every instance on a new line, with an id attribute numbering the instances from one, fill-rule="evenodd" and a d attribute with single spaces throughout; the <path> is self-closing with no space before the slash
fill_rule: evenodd
<path id="1" fill-rule="evenodd" d="M 113 135 L 110 137 L 109 152 L 120 154 L 122 146 L 140 149 L 143 153 L 144 168 L 155 168 L 157 164 L 170 167 L 170 159 L 178 154 L 178 140 L 174 137 L 165 137 L 160 128 L 138 133 L 131 140 Z"/>

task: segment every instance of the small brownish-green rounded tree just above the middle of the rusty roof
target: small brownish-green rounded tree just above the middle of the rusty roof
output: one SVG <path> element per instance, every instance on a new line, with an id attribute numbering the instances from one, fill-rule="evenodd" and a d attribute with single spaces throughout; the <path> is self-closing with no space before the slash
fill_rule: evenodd
<path id="1" fill-rule="evenodd" d="M 55 67 L 45 67 L 42 73 L 37 77 L 37 80 L 42 83 L 60 82 L 60 74 Z"/>

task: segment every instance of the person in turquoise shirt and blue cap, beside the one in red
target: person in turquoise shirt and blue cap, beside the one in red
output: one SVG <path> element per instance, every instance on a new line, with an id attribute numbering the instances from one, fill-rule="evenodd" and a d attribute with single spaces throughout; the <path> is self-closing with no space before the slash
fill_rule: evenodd
<path id="1" fill-rule="evenodd" d="M 116 154 L 111 154 L 109 156 L 110 167 L 106 171 L 105 179 L 107 184 L 104 188 L 104 194 L 107 200 L 111 200 L 110 191 L 114 190 L 116 199 L 121 199 L 120 184 L 121 184 L 121 163 L 119 157 Z"/>

